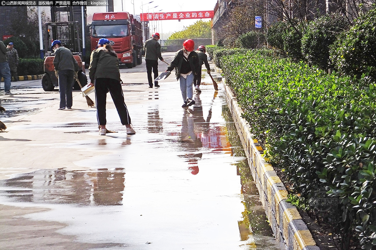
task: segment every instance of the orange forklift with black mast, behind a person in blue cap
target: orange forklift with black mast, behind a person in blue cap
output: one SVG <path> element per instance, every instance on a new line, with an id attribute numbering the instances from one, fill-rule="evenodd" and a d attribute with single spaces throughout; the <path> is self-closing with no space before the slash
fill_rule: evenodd
<path id="1" fill-rule="evenodd" d="M 61 11 L 68 12 L 68 20 L 65 22 L 58 22 Z M 85 62 L 81 59 L 81 43 L 79 36 L 78 21 L 73 21 L 73 8 L 72 7 L 51 7 L 51 20 L 52 22 L 45 24 L 46 39 L 45 48 L 49 50 L 52 41 L 60 40 L 61 44 L 69 48 L 73 53 L 74 59 L 78 63 L 78 80 L 81 86 L 88 83 L 85 75 Z M 52 35 L 52 37 L 51 37 Z M 53 91 L 55 86 L 59 86 L 58 79 L 55 76 L 55 67 L 53 66 L 53 59 L 55 58 L 53 51 L 47 51 L 44 58 L 44 75 L 42 76 L 42 88 L 44 91 Z M 73 89 L 80 89 L 79 83 L 74 80 Z"/>

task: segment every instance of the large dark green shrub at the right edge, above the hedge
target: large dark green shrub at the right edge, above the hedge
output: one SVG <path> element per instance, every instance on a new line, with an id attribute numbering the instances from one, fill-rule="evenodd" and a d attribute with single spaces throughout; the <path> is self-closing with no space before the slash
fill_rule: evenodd
<path id="1" fill-rule="evenodd" d="M 369 73 L 376 80 L 376 9 L 359 16 L 332 50 L 337 69 L 361 77 Z"/>

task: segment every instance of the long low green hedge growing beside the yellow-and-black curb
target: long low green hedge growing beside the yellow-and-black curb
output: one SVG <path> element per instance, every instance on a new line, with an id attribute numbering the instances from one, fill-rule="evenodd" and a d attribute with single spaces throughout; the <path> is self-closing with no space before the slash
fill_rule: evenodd
<path id="1" fill-rule="evenodd" d="M 273 50 L 235 51 L 221 51 L 218 61 L 270 161 L 313 214 L 318 193 L 338 199 L 320 215 L 342 249 L 374 249 L 376 85 L 366 75 L 328 75 L 276 58 Z"/>

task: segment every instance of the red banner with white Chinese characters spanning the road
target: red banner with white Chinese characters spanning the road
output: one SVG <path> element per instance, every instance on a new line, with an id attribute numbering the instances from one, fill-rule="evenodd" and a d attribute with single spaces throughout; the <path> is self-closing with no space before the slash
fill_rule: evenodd
<path id="1" fill-rule="evenodd" d="M 141 13 L 141 21 L 155 20 L 180 20 L 180 19 L 201 19 L 213 18 L 214 11 L 178 11 L 178 12 L 155 12 Z"/>

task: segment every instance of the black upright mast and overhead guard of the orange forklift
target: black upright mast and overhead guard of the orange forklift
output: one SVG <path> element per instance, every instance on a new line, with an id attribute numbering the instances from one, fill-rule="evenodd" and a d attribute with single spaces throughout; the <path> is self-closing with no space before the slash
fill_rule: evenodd
<path id="1" fill-rule="evenodd" d="M 60 12 L 67 12 L 68 21 L 61 21 Z M 64 47 L 69 48 L 74 55 L 81 55 L 81 42 L 78 21 L 73 21 L 73 7 L 51 7 L 51 23 L 46 23 L 46 50 L 54 40 L 60 40 Z M 52 28 L 50 30 L 50 27 Z M 50 39 L 52 32 L 52 39 Z M 53 52 L 50 52 L 53 53 Z"/>

